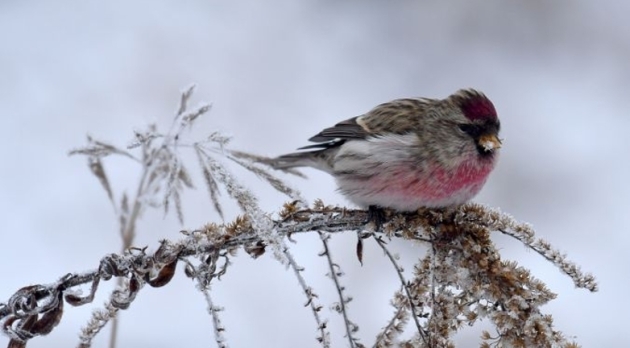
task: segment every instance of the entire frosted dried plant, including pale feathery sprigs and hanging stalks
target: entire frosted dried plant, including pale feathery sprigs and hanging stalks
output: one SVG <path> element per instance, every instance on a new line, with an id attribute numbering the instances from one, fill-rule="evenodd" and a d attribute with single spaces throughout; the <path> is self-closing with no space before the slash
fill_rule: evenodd
<path id="1" fill-rule="evenodd" d="M 104 256 L 92 271 L 69 273 L 50 285 L 25 286 L 7 302 L 0 303 L 0 324 L 10 337 L 9 347 L 25 347 L 31 338 L 47 335 L 60 322 L 64 303 L 72 306 L 91 303 L 100 281 L 115 277 L 118 287 L 105 307 L 94 310 L 91 320 L 81 330 L 79 347 L 90 347 L 100 330 L 121 309 L 127 309 L 145 285 L 167 285 L 179 264 L 184 266 L 188 277 L 196 280 L 206 300 L 217 346 L 227 347 L 226 328 L 220 319 L 223 309 L 213 302 L 210 284 L 227 274 L 230 259 L 239 249 L 253 257 L 271 249 L 281 264 L 293 270 L 306 297 L 306 307 L 315 319 L 318 332 L 315 339 L 322 347 L 331 347 L 331 328 L 322 312 L 324 306 L 318 303 L 316 289 L 308 284 L 302 275 L 304 269 L 285 243 L 292 235 L 301 233 L 319 234 L 323 246 L 320 256 L 329 266 L 328 276 L 339 296 L 332 308 L 343 317 L 344 327 L 340 330 L 345 331 L 351 347 L 365 347 L 356 335 L 359 326 L 348 311 L 351 297 L 342 285 L 343 272 L 329 248 L 331 234 L 347 232 L 358 235 L 359 261 L 364 257 L 363 243 L 373 240 L 382 248 L 400 280 L 400 290 L 391 301 L 393 315 L 384 318 L 383 329 L 374 333 L 373 347 L 453 347 L 454 334 L 481 319 L 491 321 L 495 331 L 482 334 L 481 347 L 577 347 L 554 329 L 550 315 L 540 311 L 556 295 L 530 271 L 502 259 L 491 235 L 499 232 L 520 241 L 556 265 L 576 287 L 594 292 L 597 283 L 564 254 L 536 238 L 529 225 L 518 223 L 499 210 L 469 203 L 413 213 L 386 211 L 385 223 L 375 230 L 372 223 L 366 223 L 366 211 L 327 206 L 319 200 L 309 207 L 297 190 L 259 164 L 265 162 L 264 158 L 228 149 L 230 139 L 220 133 L 212 133 L 201 142 L 182 144 L 182 132 L 209 110 L 208 105 L 188 109 L 192 92 L 190 88 L 182 94 L 174 122 L 166 133 L 149 126 L 145 132 L 137 132 L 134 143 L 126 149 L 88 137 L 87 146 L 71 152 L 88 158 L 90 170 L 105 189 L 120 223 L 123 250 Z M 136 223 L 146 208 L 161 207 L 168 212 L 174 206 L 183 222 L 181 193 L 194 186 L 180 156 L 182 149 L 192 149 L 196 154 L 208 196 L 221 217 L 222 189 L 238 203 L 242 215 L 228 223 L 208 223 L 182 231 L 179 240 L 162 240 L 155 251 L 134 247 Z M 140 165 L 139 185 L 131 198 L 125 193 L 119 199 L 115 197 L 102 161 L 112 155 L 127 157 Z M 253 172 L 292 201 L 284 205 L 278 216 L 266 214 L 256 196 L 221 159 Z M 410 277 L 386 243 L 394 238 L 426 245 L 427 252 L 419 258 Z M 88 283 L 91 285 L 87 295 L 75 290 Z M 414 334 L 403 337 L 408 327 L 413 328 Z M 115 337 L 115 330 L 112 331 Z"/>

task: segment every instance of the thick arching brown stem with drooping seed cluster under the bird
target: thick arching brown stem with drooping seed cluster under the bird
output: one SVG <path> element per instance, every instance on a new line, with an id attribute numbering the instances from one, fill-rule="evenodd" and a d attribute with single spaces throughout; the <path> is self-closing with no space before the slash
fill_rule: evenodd
<path id="1" fill-rule="evenodd" d="M 427 330 L 429 335 L 433 335 L 428 342 L 448 342 L 463 324 L 472 324 L 486 317 L 495 323 L 501 342 L 525 346 L 545 346 L 549 343 L 569 347 L 564 336 L 553 329 L 551 317 L 539 310 L 555 295 L 527 270 L 514 262 L 503 261 L 490 240 L 493 230 L 489 227 L 497 226 L 497 218 L 503 217 L 497 214 L 495 210 L 478 204 L 467 204 L 453 210 L 390 213 L 383 231 L 373 233 L 420 242 L 433 240 L 430 247 L 435 250 L 435 256 L 425 256 L 416 266 L 413 278 L 405 282 L 408 287 L 405 291 L 409 294 L 403 296 L 404 301 L 414 307 L 412 312 L 415 316 L 422 319 L 416 324 L 421 326 L 423 331 L 420 332 Z M 287 238 L 300 233 L 369 229 L 372 225 L 366 224 L 366 221 L 366 211 L 325 206 L 318 201 L 309 209 L 286 204 L 280 218 L 268 223 L 272 226 L 269 233 Z M 523 227 L 516 223 L 508 225 L 501 224 L 501 227 L 506 230 Z M 427 226 L 433 226 L 432 231 L 427 231 Z M 231 223 L 211 223 L 198 230 L 187 231 L 178 241 L 162 241 L 153 253 L 146 249 L 132 249 L 123 254 L 110 254 L 91 272 L 70 274 L 49 286 L 20 289 L 0 305 L 2 327 L 18 342 L 46 334 L 61 319 L 63 312 L 60 308 L 64 301 L 71 305 L 89 303 L 99 281 L 112 277 L 129 279 L 128 289 L 116 290 L 127 293 L 116 293 L 111 300 L 114 308 L 125 309 L 143 285 L 159 287 L 168 284 L 180 261 L 185 261 L 187 275 L 214 282 L 226 273 L 224 267 L 217 267 L 221 253 L 243 248 L 259 256 L 265 252 L 267 242 L 268 239 L 260 235 L 248 218 L 239 217 Z M 195 265 L 192 259 L 201 261 Z M 332 259 L 330 262 L 334 264 Z M 568 275 L 573 278 L 574 274 Z M 579 279 L 588 277 L 582 275 Z M 428 286 L 427 278 L 436 282 L 435 293 Z M 594 282 L 584 283 L 579 279 L 574 278 L 576 286 L 596 291 Z M 79 296 L 73 291 L 76 286 L 87 283 L 92 283 L 87 296 Z M 432 322 L 423 319 L 422 314 L 429 311 L 432 311 Z M 55 320 L 51 320 L 51 313 Z M 349 318 L 347 320 L 350 322 Z M 421 337 L 409 342 L 418 347 L 430 346 Z"/>

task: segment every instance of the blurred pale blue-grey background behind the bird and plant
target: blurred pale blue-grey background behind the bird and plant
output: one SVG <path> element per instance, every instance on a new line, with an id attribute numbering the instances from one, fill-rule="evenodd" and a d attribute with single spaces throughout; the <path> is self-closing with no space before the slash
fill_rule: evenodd
<path id="1" fill-rule="evenodd" d="M 543 310 L 584 347 L 630 346 L 630 2 L 604 1 L 0 1 L 0 302 L 18 288 L 91 269 L 120 248 L 112 209 L 84 158 L 67 156 L 85 134 L 122 146 L 149 122 L 170 124 L 179 93 L 213 109 L 193 132 L 232 134 L 232 147 L 292 151 L 323 127 L 398 97 L 445 97 L 462 87 L 495 103 L 505 138 L 498 168 L 476 201 L 534 225 L 538 235 L 593 272 L 600 292 L 497 235 L 558 293 Z M 115 189 L 135 167 L 106 162 Z M 189 165 L 194 171 L 195 163 Z M 345 204 L 314 170 L 288 179 L 309 199 Z M 269 211 L 285 197 L 244 180 Z M 202 182 L 197 180 L 199 187 Z M 185 227 L 217 221 L 203 190 L 186 195 Z M 236 209 L 231 207 L 228 216 Z M 178 238 L 171 216 L 148 212 L 136 245 Z M 370 345 L 398 288 L 382 252 L 354 257 L 355 240 L 333 238 L 355 298 L 350 314 Z M 412 261 L 423 248 L 393 243 Z M 317 238 L 294 254 L 328 307 L 336 301 Z M 241 253 L 213 285 L 231 347 L 317 347 L 295 277 L 270 255 Z M 110 282 L 111 283 L 111 282 Z M 67 307 L 59 327 L 29 347 L 75 346 L 95 306 Z M 339 315 L 326 309 L 331 326 Z M 201 294 L 181 270 L 145 288 L 122 313 L 119 347 L 213 347 Z M 479 327 L 484 327 L 481 325 Z M 477 346 L 479 328 L 457 341 Z M 106 347 L 106 329 L 95 347 Z M 334 346 L 347 342 L 335 331 Z M 8 339 L 0 338 L 0 346 Z"/>

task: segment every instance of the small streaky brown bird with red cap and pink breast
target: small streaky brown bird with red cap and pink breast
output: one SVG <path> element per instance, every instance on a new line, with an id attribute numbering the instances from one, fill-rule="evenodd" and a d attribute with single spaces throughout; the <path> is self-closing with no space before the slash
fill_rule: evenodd
<path id="1" fill-rule="evenodd" d="M 474 89 L 445 99 L 397 99 L 324 129 L 309 139 L 315 144 L 268 164 L 323 170 L 361 207 L 450 207 L 485 184 L 501 147 L 499 128 L 494 105 Z"/>

